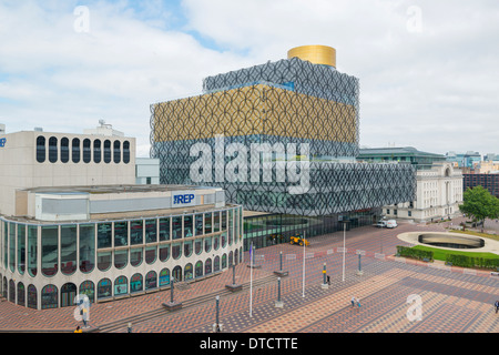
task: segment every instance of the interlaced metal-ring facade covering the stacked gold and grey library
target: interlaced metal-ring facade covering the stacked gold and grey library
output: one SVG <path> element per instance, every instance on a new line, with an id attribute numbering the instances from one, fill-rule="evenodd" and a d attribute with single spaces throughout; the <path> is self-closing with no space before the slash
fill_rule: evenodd
<path id="1" fill-rule="evenodd" d="M 410 164 L 354 160 L 359 138 L 356 78 L 293 58 L 205 78 L 203 90 L 151 105 L 151 156 L 160 159 L 161 183 L 221 186 L 227 202 L 246 210 L 299 215 L 415 200 Z M 217 146 L 218 135 L 223 141 Z M 268 175 L 259 171 L 255 180 L 254 170 L 241 166 L 259 161 L 263 168 L 265 152 L 256 160 L 249 154 L 252 144 L 263 143 L 272 170 Z M 204 148 L 193 152 L 200 144 Z M 234 153 L 234 146 L 246 148 L 247 154 L 244 149 Z M 201 182 L 192 176 L 200 158 L 208 162 L 196 168 L 204 173 Z M 293 166 L 307 183 L 302 193 L 289 193 L 298 183 L 287 175 L 292 169 L 283 160 L 296 160 Z"/>

